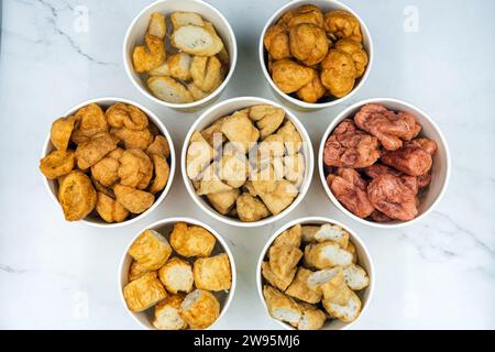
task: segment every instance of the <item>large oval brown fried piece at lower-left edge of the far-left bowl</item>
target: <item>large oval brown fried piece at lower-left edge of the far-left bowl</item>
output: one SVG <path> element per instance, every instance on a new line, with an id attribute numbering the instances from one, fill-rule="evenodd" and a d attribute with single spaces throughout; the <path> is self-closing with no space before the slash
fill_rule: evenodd
<path id="1" fill-rule="evenodd" d="M 58 187 L 58 201 L 67 221 L 82 220 L 95 209 L 97 202 L 91 179 L 81 172 L 70 172 Z"/>

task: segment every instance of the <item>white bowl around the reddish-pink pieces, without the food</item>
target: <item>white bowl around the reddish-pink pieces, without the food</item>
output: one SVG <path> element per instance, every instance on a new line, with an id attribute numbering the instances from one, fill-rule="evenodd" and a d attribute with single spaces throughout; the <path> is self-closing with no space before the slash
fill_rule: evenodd
<path id="1" fill-rule="evenodd" d="M 337 125 L 343 121 L 346 118 L 353 118 L 354 114 L 361 109 L 361 107 L 367 105 L 367 103 L 378 103 L 387 109 L 394 110 L 394 111 L 406 111 L 410 112 L 416 117 L 416 121 L 421 125 L 421 132 L 420 136 L 428 138 L 435 142 L 437 142 L 438 145 L 438 152 L 433 157 L 433 166 L 432 166 L 432 179 L 431 184 L 428 189 L 426 189 L 426 194 L 421 199 L 421 205 L 419 207 L 419 216 L 413 220 L 409 221 L 393 221 L 387 223 L 378 223 L 374 221 L 369 221 L 361 219 L 350 212 L 348 209 L 345 209 L 342 204 L 337 200 L 337 198 L 333 196 L 333 193 L 330 190 L 330 187 L 328 187 L 326 174 L 324 174 L 324 164 L 323 164 L 323 151 L 324 151 L 324 144 L 330 136 L 330 134 L 333 132 L 333 130 L 337 128 Z M 422 218 L 425 218 L 430 211 L 433 210 L 433 208 L 437 206 L 437 204 L 442 198 L 443 194 L 446 193 L 447 186 L 449 184 L 450 179 L 450 153 L 449 147 L 447 145 L 447 141 L 443 138 L 442 132 L 438 128 L 438 125 L 433 122 L 433 120 L 424 111 L 420 109 L 414 107 L 410 103 L 407 103 L 402 100 L 397 99 L 391 99 L 391 98 L 374 98 L 369 99 L 364 101 L 356 102 L 355 105 L 346 108 L 344 111 L 342 111 L 333 121 L 330 123 L 330 127 L 324 132 L 323 138 L 321 140 L 320 144 L 320 151 L 318 154 L 318 168 L 320 170 L 320 179 L 323 185 L 324 190 L 327 191 L 328 197 L 330 200 L 336 205 L 337 208 L 339 208 L 341 211 L 346 213 L 352 219 L 374 228 L 381 228 L 381 229 L 394 229 L 394 228 L 400 228 L 410 226 L 413 223 L 416 223 L 420 221 Z"/>

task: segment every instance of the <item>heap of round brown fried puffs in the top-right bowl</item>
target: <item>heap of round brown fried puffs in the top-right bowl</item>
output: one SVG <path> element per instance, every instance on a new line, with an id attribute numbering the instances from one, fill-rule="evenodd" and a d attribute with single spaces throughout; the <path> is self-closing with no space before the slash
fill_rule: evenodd
<path id="1" fill-rule="evenodd" d="M 285 12 L 264 45 L 275 85 L 310 103 L 349 95 L 369 64 L 358 19 L 341 10 L 323 14 L 312 4 Z"/>

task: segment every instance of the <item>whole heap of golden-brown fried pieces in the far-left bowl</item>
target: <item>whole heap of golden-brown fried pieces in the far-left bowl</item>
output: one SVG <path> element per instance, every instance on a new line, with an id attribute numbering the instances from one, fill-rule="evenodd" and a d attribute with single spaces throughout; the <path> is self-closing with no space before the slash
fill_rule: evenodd
<path id="1" fill-rule="evenodd" d="M 41 160 L 56 180 L 67 221 L 122 222 L 146 211 L 168 183 L 167 139 L 139 108 L 91 103 L 52 124 L 54 151 Z"/>

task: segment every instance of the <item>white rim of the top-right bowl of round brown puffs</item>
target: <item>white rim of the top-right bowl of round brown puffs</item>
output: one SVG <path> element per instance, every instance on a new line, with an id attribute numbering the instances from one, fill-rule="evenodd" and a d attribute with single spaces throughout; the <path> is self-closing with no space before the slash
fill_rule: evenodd
<path id="1" fill-rule="evenodd" d="M 275 90 L 275 92 L 280 96 L 282 98 L 284 98 L 285 100 L 287 100 L 288 102 L 302 108 L 302 109 L 308 109 L 308 110 L 319 110 L 319 109 L 324 109 L 324 108 L 329 108 L 329 107 L 334 107 L 339 103 L 342 103 L 344 101 L 346 101 L 348 99 L 352 98 L 363 86 L 364 84 L 367 81 L 367 78 L 370 76 L 370 73 L 372 70 L 373 64 L 374 64 L 374 56 L 375 56 L 375 52 L 374 52 L 374 44 L 373 44 L 373 37 L 371 35 L 371 32 L 366 25 L 366 23 L 364 22 L 364 20 L 349 6 L 337 1 L 337 0 L 322 0 L 324 2 L 329 2 L 329 3 L 334 3 L 339 7 L 341 7 L 342 9 L 345 9 L 345 11 L 352 13 L 352 15 L 354 15 L 358 21 L 360 22 L 361 25 L 361 31 L 363 32 L 363 37 L 367 37 L 370 44 L 369 44 L 369 50 L 367 50 L 367 56 L 369 56 L 369 64 L 366 66 L 366 70 L 364 73 L 364 75 L 360 78 L 360 81 L 358 85 L 354 86 L 354 88 L 352 89 L 351 92 L 349 92 L 345 97 L 342 98 L 338 98 L 336 100 L 332 101 L 328 101 L 328 102 L 306 102 L 296 98 L 290 97 L 289 95 L 283 92 L 277 85 L 275 85 L 275 82 L 272 79 L 272 76 L 270 75 L 267 67 L 265 65 L 265 47 L 264 47 L 264 43 L 263 43 L 263 38 L 265 36 L 266 31 L 268 30 L 268 28 L 280 16 L 282 13 L 284 13 L 288 8 L 294 7 L 295 4 L 306 4 L 306 3 L 314 3 L 314 1 L 310 0 L 294 0 L 294 1 L 289 1 L 288 3 L 284 4 L 282 8 L 279 8 L 277 11 L 275 11 L 275 13 L 268 19 L 268 21 L 266 22 L 265 26 L 263 28 L 263 31 L 260 35 L 260 42 L 258 42 L 258 59 L 260 59 L 260 65 L 263 72 L 263 75 L 265 76 L 265 79 L 268 81 L 270 86 L 272 87 L 273 90 Z"/>

